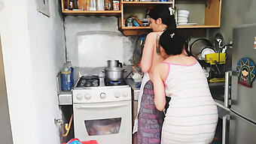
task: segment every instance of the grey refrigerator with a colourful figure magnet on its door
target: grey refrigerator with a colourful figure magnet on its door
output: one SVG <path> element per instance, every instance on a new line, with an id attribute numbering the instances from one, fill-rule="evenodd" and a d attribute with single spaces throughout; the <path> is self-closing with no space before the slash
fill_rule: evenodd
<path id="1" fill-rule="evenodd" d="M 232 71 L 226 72 L 222 143 L 256 143 L 256 23 L 233 28 Z M 228 86 L 231 86 L 229 92 Z"/>

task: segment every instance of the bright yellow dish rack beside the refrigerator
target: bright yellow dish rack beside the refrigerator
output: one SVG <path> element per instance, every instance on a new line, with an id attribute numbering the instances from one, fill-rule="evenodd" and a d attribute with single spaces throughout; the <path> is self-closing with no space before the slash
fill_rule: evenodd
<path id="1" fill-rule="evenodd" d="M 209 65 L 210 65 L 209 74 L 210 74 L 210 78 L 211 79 L 209 80 L 209 82 L 210 83 L 224 82 L 225 81 L 224 77 L 221 77 L 224 74 L 224 72 L 221 73 L 221 70 L 220 70 L 219 67 L 221 65 L 225 66 L 225 63 L 226 63 L 226 53 L 219 52 L 219 53 L 206 54 L 205 55 L 205 62 L 209 63 Z M 216 67 L 215 71 L 212 71 L 212 70 L 214 70 L 212 68 L 213 67 L 212 65 L 215 65 L 215 67 Z M 224 68 L 223 68 L 223 70 L 224 70 Z M 218 74 L 219 77 L 216 78 L 215 76 L 213 76 L 214 74 L 212 74 L 212 73 L 214 73 L 214 72 L 215 72 L 215 76 Z"/>

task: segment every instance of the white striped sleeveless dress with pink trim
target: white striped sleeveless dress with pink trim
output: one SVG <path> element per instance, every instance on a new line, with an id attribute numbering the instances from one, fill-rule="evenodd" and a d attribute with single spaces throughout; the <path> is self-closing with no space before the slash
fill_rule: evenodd
<path id="1" fill-rule="evenodd" d="M 218 110 L 198 62 L 169 65 L 164 81 L 171 97 L 163 122 L 161 144 L 210 143 L 215 136 Z"/>

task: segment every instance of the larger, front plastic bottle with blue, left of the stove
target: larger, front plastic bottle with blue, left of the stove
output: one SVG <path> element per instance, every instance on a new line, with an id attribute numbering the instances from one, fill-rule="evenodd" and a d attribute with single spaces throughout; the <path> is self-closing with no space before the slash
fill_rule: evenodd
<path id="1" fill-rule="evenodd" d="M 72 84 L 71 84 L 70 76 L 71 76 L 71 69 L 67 64 L 64 64 L 61 71 L 61 90 L 64 92 L 71 90 Z"/>

